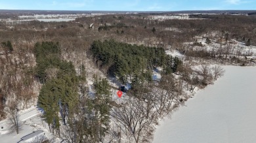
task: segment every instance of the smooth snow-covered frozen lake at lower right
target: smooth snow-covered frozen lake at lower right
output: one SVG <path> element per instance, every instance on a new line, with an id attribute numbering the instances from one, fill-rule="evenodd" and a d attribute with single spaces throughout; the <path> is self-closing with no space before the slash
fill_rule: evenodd
<path id="1" fill-rule="evenodd" d="M 160 121 L 154 143 L 255 142 L 256 67 L 224 69 L 214 85 Z"/>

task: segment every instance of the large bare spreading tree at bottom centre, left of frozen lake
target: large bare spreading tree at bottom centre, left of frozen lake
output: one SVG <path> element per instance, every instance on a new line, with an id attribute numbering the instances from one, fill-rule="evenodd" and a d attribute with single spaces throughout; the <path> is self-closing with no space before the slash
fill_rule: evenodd
<path id="1" fill-rule="evenodd" d="M 133 136 L 134 142 L 142 142 L 142 140 L 150 139 L 147 134 L 154 121 L 156 114 L 150 114 L 146 117 L 146 108 L 142 105 L 143 101 L 130 99 L 125 106 L 114 108 L 111 113 L 119 124 L 121 133 L 125 136 Z"/>

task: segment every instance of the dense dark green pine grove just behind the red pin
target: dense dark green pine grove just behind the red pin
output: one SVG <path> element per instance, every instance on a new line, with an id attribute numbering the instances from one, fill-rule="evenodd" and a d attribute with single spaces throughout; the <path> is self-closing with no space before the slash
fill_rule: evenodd
<path id="1" fill-rule="evenodd" d="M 91 52 L 102 69 L 110 76 L 117 76 L 123 83 L 138 84 L 152 81 L 152 70 L 163 69 L 164 74 L 176 72 L 182 64 L 178 57 L 165 54 L 163 48 L 125 44 L 115 40 L 96 40 Z"/>

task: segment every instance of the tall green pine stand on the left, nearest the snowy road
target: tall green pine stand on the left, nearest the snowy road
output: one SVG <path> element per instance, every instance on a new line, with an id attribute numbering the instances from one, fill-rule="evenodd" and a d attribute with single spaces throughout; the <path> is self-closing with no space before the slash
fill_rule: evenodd
<path id="1" fill-rule="evenodd" d="M 60 127 L 58 113 L 60 112 L 64 124 L 68 116 L 74 115 L 71 111 L 78 103 L 79 78 L 72 62 L 60 59 L 58 42 L 37 42 L 35 57 L 36 74 L 43 83 L 38 105 L 45 111 L 43 118 L 50 129 L 58 131 Z"/>

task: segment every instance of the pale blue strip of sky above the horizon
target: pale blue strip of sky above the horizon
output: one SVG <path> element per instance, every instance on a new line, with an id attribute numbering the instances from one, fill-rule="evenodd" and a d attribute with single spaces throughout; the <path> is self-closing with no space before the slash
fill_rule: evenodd
<path id="1" fill-rule="evenodd" d="M 256 0 L 0 0 L 0 9 L 22 10 L 256 10 Z"/>

